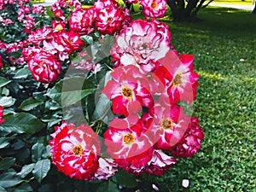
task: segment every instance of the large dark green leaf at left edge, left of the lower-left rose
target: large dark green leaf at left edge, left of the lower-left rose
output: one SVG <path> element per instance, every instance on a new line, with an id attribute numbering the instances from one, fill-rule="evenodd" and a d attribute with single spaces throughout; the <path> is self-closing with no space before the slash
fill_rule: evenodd
<path id="1" fill-rule="evenodd" d="M 14 113 L 4 116 L 0 131 L 34 134 L 44 127 L 37 117 L 29 113 Z"/>

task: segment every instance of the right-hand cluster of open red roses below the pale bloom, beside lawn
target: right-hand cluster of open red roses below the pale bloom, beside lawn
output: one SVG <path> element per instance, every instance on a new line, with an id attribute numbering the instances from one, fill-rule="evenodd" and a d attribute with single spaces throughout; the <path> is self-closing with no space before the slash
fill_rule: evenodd
<path id="1" fill-rule="evenodd" d="M 124 39 L 130 40 L 136 35 Z M 124 47 L 130 45 L 125 43 L 122 42 Z M 152 66 L 152 61 L 144 65 L 134 61 L 113 69 L 113 80 L 102 93 L 112 100 L 113 113 L 125 118 L 113 119 L 104 137 L 108 154 L 126 172 L 154 174 L 150 167 L 152 160 L 158 158 L 154 169 L 159 170 L 155 174 L 160 175 L 177 161 L 171 156 L 163 158 L 167 155 L 164 151 L 177 157 L 191 157 L 198 152 L 203 138 L 199 122 L 184 114 L 183 108 L 177 105 L 195 100 L 199 77 L 193 72 L 192 61 L 191 55 L 178 57 L 176 51 L 169 50 L 154 67 L 147 67 Z M 146 75 L 145 66 L 151 70 Z"/>

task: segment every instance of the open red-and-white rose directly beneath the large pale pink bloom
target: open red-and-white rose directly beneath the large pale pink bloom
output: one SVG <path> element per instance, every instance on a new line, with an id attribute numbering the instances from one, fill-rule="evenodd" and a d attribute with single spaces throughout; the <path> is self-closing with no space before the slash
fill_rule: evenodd
<path id="1" fill-rule="evenodd" d="M 148 79 L 136 66 L 114 68 L 102 93 L 113 101 L 113 113 L 127 117 L 131 113 L 138 113 L 142 106 L 149 108 L 153 98 L 149 92 Z"/>

